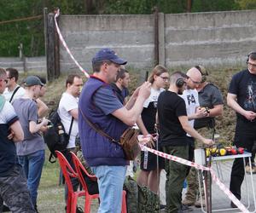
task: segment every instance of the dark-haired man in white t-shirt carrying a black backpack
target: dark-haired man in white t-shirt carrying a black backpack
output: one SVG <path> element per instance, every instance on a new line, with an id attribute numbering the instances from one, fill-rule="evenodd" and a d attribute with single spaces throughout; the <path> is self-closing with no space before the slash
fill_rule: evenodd
<path id="1" fill-rule="evenodd" d="M 64 126 L 65 132 L 68 134 L 71 128 L 69 142 L 67 144 L 67 152 L 63 154 L 65 155 L 65 157 L 67 158 L 67 161 L 69 162 L 69 164 L 71 164 L 73 168 L 74 168 L 73 160 L 69 151 L 71 152 L 76 151 L 75 140 L 76 140 L 76 136 L 79 134 L 79 125 L 78 125 L 79 95 L 80 95 L 82 86 L 83 86 L 83 80 L 79 75 L 77 74 L 69 75 L 66 80 L 66 91 L 61 96 L 61 101 L 59 103 L 59 108 L 58 108 L 58 113 L 61 118 L 61 123 Z M 73 181 L 73 187 L 77 188 L 79 186 L 79 181 L 77 179 L 72 179 L 72 181 Z M 67 200 L 67 187 L 65 190 L 65 199 Z"/>

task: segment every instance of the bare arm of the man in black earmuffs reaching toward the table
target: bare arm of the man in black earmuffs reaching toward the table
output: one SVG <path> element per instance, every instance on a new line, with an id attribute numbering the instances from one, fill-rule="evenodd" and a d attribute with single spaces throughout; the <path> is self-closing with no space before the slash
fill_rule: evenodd
<path id="1" fill-rule="evenodd" d="M 203 143 L 207 144 L 207 145 L 212 145 L 214 144 L 214 141 L 212 141 L 211 139 L 207 139 L 204 138 L 202 135 L 200 135 L 194 128 L 192 128 L 189 124 L 189 120 L 187 116 L 179 116 L 178 120 L 180 122 L 180 124 L 183 127 L 183 130 L 185 132 L 187 132 L 189 135 L 191 135 L 192 137 L 202 141 Z"/>

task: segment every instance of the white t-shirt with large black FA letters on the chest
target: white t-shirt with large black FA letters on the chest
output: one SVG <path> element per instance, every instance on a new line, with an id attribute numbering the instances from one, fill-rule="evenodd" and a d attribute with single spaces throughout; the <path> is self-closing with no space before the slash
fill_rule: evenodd
<path id="1" fill-rule="evenodd" d="M 180 95 L 186 103 L 187 115 L 195 114 L 196 107 L 199 107 L 198 92 L 196 89 L 184 89 L 183 95 Z M 190 126 L 194 127 L 195 119 L 189 120 Z M 191 135 L 187 134 L 189 137 Z"/>

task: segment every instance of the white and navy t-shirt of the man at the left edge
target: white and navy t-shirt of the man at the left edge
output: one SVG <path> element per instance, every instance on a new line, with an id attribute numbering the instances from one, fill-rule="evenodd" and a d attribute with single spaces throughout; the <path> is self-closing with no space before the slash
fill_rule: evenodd
<path id="1" fill-rule="evenodd" d="M 15 143 L 7 138 L 9 127 L 18 119 L 14 107 L 5 101 L 0 110 L 0 176 L 6 176 L 18 164 Z"/>

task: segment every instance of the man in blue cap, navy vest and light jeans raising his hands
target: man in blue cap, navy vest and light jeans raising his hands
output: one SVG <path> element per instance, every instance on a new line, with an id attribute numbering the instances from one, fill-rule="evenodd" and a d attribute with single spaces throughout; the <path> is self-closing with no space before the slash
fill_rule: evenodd
<path id="1" fill-rule="evenodd" d="M 79 97 L 79 135 L 86 162 L 98 178 L 101 204 L 98 212 L 120 213 L 126 165 L 124 150 L 92 127 L 88 120 L 119 141 L 123 132 L 136 123 L 143 102 L 150 94 L 150 83 L 143 83 L 125 106 L 111 85 L 126 60 L 112 49 L 101 49 L 92 59 L 93 75 L 85 83 Z M 87 120 L 86 120 L 87 119 Z"/>

